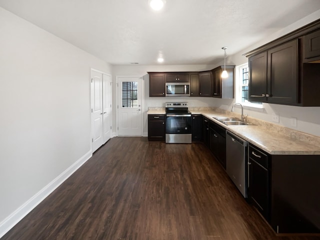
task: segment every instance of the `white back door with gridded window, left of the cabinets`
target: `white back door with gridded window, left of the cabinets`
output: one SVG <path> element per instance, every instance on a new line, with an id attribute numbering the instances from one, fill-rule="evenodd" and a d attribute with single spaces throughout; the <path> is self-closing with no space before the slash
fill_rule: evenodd
<path id="1" fill-rule="evenodd" d="M 142 135 L 141 77 L 117 77 L 118 135 Z"/>

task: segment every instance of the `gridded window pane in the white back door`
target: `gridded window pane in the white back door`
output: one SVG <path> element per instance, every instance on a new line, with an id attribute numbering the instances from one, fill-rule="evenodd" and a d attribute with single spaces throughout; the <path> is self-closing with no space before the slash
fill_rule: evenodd
<path id="1" fill-rule="evenodd" d="M 137 107 L 137 81 L 122 81 L 122 107 Z"/>

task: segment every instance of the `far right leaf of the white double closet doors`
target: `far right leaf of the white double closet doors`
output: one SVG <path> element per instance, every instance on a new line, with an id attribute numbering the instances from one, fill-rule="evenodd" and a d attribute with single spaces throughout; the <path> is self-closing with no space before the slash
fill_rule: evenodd
<path id="1" fill-rule="evenodd" d="M 102 107 L 103 107 L 103 144 L 111 138 L 111 75 L 102 74 Z"/>

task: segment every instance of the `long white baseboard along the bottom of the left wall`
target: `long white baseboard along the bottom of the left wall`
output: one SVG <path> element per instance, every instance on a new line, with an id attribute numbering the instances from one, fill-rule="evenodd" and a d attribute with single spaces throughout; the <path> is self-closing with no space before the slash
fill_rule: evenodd
<path id="1" fill-rule="evenodd" d="M 0 222 L 0 238 L 92 156 L 90 149 L 60 175 Z"/>

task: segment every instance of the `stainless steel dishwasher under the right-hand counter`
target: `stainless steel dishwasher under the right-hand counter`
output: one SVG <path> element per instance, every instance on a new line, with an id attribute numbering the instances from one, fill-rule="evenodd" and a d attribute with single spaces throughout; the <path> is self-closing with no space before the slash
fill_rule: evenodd
<path id="1" fill-rule="evenodd" d="M 226 172 L 247 197 L 248 142 L 226 130 Z"/>

